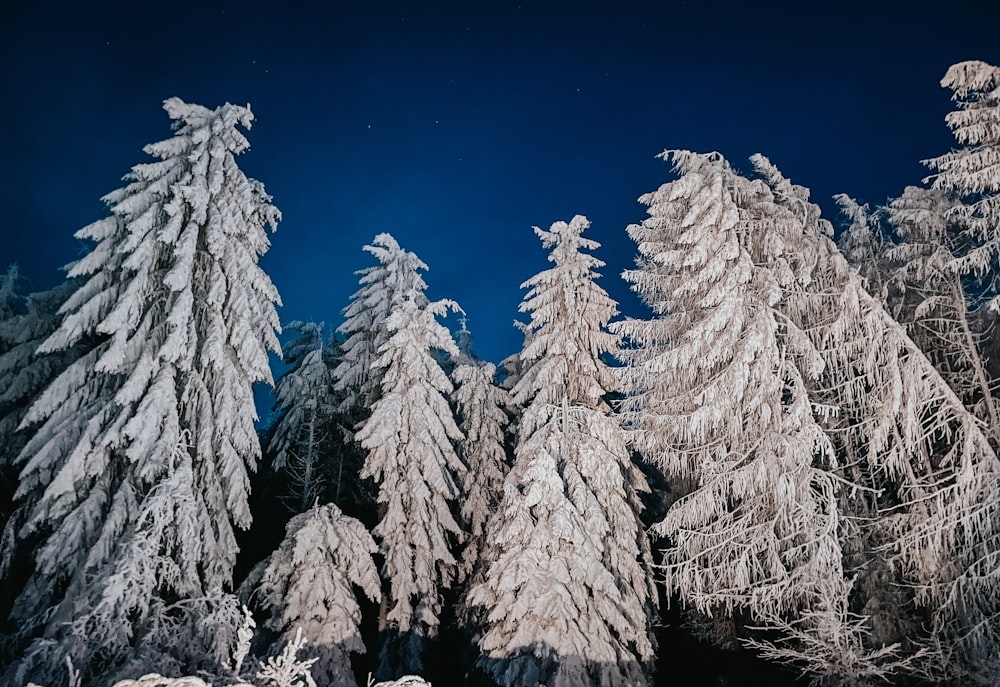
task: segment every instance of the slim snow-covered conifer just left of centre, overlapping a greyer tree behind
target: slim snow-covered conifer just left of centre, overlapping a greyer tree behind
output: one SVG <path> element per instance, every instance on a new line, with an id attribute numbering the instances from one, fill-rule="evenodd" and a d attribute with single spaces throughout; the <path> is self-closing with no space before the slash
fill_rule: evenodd
<path id="1" fill-rule="evenodd" d="M 380 235 L 376 246 L 382 265 L 392 266 L 377 282 L 390 300 L 376 333 L 388 338 L 372 360 L 375 374 L 368 373 L 381 380 L 381 393 L 356 439 L 367 451 L 362 477 L 372 478 L 378 489 L 375 535 L 389 588 L 380 619 L 387 637 L 379 670 L 389 677 L 419 672 L 426 640 L 438 631 L 441 591 L 456 576 L 452 550 L 462 531 L 452 509 L 466 469 L 455 451 L 462 433 L 448 404 L 453 386 L 433 354 L 437 349 L 457 357 L 450 332 L 437 318 L 459 308 L 447 300 L 428 303 L 417 273 L 426 267 L 391 236 Z M 386 287 L 393 291 L 385 293 Z"/>

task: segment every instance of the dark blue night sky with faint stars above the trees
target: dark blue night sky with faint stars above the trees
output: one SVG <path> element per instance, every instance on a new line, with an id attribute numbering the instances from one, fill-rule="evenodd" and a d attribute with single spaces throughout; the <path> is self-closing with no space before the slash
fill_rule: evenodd
<path id="1" fill-rule="evenodd" d="M 587 5 L 587 8 L 581 7 Z M 602 283 L 635 247 L 665 148 L 768 155 L 825 208 L 880 203 L 953 145 L 947 67 L 1000 64 L 1000 2 L 41 2 L 0 0 L 0 267 L 37 288 L 170 135 L 170 96 L 257 115 L 241 158 L 284 213 L 263 265 L 282 319 L 336 326 L 383 231 L 517 350 L 531 232 L 587 215 Z"/>

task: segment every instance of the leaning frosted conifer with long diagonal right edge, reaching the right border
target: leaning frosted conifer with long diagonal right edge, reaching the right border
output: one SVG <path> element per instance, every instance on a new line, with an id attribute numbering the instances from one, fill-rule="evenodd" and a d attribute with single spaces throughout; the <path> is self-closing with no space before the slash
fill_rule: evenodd
<path id="1" fill-rule="evenodd" d="M 910 590 L 925 629 L 909 648 L 923 645 L 925 655 L 911 655 L 904 669 L 995 683 L 1000 461 L 976 416 L 837 251 L 808 189 L 763 156 L 753 163 L 801 228 L 796 253 L 818 267 L 782 311 L 821 354 L 810 400 L 836 410 L 829 436 L 843 456 L 842 476 L 858 487 L 863 517 L 843 519 L 842 541 L 876 546 L 868 552 L 876 565 L 848 572 L 864 588 L 871 569 L 889 570 L 897 588 Z M 907 608 L 883 612 L 893 624 Z"/>

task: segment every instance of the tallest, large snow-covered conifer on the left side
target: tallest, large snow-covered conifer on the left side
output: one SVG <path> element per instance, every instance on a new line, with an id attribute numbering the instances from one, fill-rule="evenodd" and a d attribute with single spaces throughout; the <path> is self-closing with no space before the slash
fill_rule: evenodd
<path id="1" fill-rule="evenodd" d="M 279 349 L 258 259 L 280 213 L 236 163 L 248 107 L 164 109 L 175 135 L 77 232 L 93 242 L 69 268 L 82 283 L 38 351 L 96 341 L 23 421 L 22 536 L 44 542 L 12 613 L 41 633 L 21 682 L 51 682 L 64 655 L 90 681 L 144 654 L 210 667 L 239 614 L 226 590 L 260 454 L 251 385 Z"/>

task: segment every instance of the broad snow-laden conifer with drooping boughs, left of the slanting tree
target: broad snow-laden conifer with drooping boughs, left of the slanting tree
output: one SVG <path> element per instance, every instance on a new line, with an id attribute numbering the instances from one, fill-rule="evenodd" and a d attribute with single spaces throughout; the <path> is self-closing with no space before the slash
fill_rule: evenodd
<path id="1" fill-rule="evenodd" d="M 662 157 L 679 178 L 640 198 L 649 217 L 628 228 L 639 256 L 623 275 L 654 316 L 615 331 L 631 344 L 620 372 L 632 443 L 692 487 L 658 525 L 668 590 L 708 616 L 792 622 L 826 648 L 810 671 L 856 677 L 837 458 L 808 396 L 823 362 L 783 312 L 815 255 L 767 186 L 717 153 Z"/>

